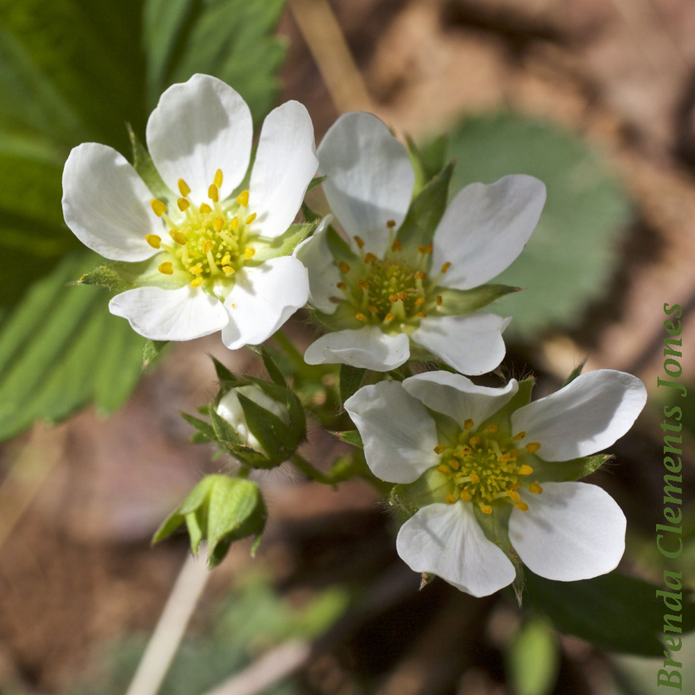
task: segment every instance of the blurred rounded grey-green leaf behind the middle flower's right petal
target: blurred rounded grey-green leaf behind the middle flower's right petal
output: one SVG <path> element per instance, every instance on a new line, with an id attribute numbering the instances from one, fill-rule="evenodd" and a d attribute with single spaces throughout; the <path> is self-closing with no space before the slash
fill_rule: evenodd
<path id="1" fill-rule="evenodd" d="M 514 316 L 513 338 L 538 340 L 551 327 L 571 327 L 598 300 L 620 262 L 616 243 L 632 220 L 630 201 L 602 159 L 580 138 L 515 113 L 466 117 L 450 132 L 456 158 L 451 193 L 473 181 L 532 174 L 548 201 L 523 253 L 497 281 L 528 288 L 500 300 Z M 581 272 L 577 272 L 581 268 Z"/>

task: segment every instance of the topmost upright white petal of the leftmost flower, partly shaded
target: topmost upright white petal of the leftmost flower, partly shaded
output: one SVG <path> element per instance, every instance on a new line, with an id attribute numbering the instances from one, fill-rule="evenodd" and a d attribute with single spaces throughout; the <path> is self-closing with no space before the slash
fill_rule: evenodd
<path id="1" fill-rule="evenodd" d="M 147 121 L 147 147 L 164 182 L 176 191 L 183 179 L 197 204 L 208 199 L 218 169 L 220 199 L 241 183 L 253 134 L 251 111 L 238 92 L 201 74 L 168 88 Z"/>

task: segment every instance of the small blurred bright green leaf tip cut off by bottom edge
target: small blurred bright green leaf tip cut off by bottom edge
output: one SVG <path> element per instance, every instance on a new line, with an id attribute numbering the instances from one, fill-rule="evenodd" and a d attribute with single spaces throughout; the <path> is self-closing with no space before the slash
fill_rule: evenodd
<path id="1" fill-rule="evenodd" d="M 560 666 L 557 637 L 541 619 L 524 623 L 507 648 L 506 667 L 515 695 L 548 695 Z"/>

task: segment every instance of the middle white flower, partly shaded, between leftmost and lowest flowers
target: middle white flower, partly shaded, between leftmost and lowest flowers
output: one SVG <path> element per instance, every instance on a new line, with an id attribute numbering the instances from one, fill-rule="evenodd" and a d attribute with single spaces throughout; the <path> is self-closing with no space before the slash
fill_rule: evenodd
<path id="1" fill-rule="evenodd" d="M 496 368 L 505 355 L 502 331 L 509 319 L 471 313 L 468 291 L 521 253 L 545 202 L 543 183 L 515 175 L 466 186 L 443 214 L 432 243 L 420 240 L 418 247 L 402 243 L 400 229 L 414 172 L 382 121 L 368 113 L 341 116 L 318 158 L 319 173 L 327 176 L 323 190 L 350 247 L 325 231 L 297 250 L 309 269 L 318 318 L 334 331 L 310 345 L 304 359 L 386 371 L 416 350 L 465 374 Z"/>

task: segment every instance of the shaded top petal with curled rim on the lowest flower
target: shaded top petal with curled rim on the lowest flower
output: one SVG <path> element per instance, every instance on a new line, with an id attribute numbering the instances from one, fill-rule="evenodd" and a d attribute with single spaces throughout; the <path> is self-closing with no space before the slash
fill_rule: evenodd
<path id="1" fill-rule="evenodd" d="M 480 425 L 504 407 L 519 386 L 512 379 L 501 389 L 476 386 L 471 379 L 450 372 L 425 372 L 408 377 L 403 388 L 431 410 L 443 413 L 461 425 L 469 418 Z"/>

